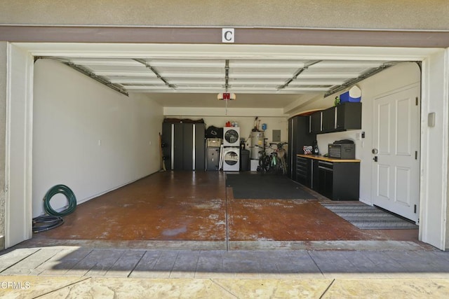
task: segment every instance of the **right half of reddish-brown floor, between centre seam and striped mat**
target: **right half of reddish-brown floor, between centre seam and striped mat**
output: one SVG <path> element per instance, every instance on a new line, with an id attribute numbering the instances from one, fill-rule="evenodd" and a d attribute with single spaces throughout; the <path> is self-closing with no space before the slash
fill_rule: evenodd
<path id="1" fill-rule="evenodd" d="M 232 200 L 229 240 L 321 241 L 373 239 L 317 200 Z"/>

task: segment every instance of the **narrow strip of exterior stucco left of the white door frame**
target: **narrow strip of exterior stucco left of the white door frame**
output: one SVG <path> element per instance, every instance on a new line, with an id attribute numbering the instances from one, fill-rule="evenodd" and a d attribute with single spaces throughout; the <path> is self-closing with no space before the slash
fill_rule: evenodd
<path id="1" fill-rule="evenodd" d="M 0 42 L 0 249 L 5 248 L 6 42 Z"/>

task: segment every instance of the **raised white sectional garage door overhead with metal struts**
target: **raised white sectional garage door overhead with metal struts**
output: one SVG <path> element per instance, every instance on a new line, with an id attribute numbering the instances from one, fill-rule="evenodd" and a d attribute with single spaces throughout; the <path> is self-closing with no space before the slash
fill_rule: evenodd
<path id="1" fill-rule="evenodd" d="M 210 99 L 210 94 L 216 99 L 219 92 L 226 91 L 235 93 L 239 99 L 242 94 L 247 95 L 246 98 L 257 95 L 259 101 L 261 97 L 269 97 L 271 102 L 277 99 L 278 106 L 286 106 L 300 95 L 326 95 L 395 63 L 382 60 L 274 60 L 263 57 L 51 58 L 125 94 L 150 92 L 156 99 L 165 100 L 164 106 L 179 105 L 179 100 L 170 99 L 186 101 L 186 98 L 192 97 L 185 94 L 196 94 L 196 106 L 203 106 L 199 99 Z M 192 104 L 188 106 L 195 106 Z"/>

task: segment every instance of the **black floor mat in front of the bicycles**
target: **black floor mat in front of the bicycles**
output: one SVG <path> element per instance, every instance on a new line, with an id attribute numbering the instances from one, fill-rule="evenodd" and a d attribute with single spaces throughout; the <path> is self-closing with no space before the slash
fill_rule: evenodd
<path id="1" fill-rule="evenodd" d="M 279 174 L 226 174 L 226 186 L 232 187 L 236 199 L 314 199 L 299 183 Z"/>

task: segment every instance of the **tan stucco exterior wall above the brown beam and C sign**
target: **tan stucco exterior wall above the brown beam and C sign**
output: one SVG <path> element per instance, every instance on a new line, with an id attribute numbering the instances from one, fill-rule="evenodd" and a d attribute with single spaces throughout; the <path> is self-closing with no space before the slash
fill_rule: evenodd
<path id="1" fill-rule="evenodd" d="M 0 23 L 448 29 L 447 0 L 15 0 Z"/>

